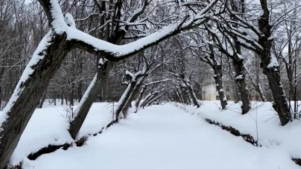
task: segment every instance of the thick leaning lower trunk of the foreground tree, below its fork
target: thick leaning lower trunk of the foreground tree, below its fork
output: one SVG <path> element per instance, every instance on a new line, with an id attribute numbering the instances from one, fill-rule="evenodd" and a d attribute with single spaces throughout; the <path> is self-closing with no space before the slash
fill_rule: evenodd
<path id="1" fill-rule="evenodd" d="M 51 77 L 70 49 L 65 33 L 49 33 L 33 54 L 2 112 L 6 117 L 0 127 L 0 169 L 6 167 Z"/>

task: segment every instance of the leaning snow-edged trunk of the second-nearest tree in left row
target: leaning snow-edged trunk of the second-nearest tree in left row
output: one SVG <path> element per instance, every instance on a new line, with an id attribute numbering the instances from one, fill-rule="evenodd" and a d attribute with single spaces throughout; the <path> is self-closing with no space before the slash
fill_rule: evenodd
<path id="1" fill-rule="evenodd" d="M 98 58 L 99 60 L 100 58 Z M 99 62 L 99 61 L 97 61 Z M 108 73 L 111 68 L 111 62 L 105 61 L 103 64 L 98 64 L 98 72 L 95 75 L 93 81 L 85 91 L 84 96 L 82 97 L 78 107 L 74 110 L 74 117 L 70 122 L 69 133 L 73 139 L 76 138 L 80 128 L 82 127 L 88 112 L 94 102 L 95 97 L 100 91 L 100 87 L 108 78 Z"/>

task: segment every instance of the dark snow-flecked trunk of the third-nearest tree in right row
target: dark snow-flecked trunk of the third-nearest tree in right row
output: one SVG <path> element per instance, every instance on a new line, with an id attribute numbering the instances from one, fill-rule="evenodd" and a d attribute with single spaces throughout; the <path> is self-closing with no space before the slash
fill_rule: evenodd
<path id="1" fill-rule="evenodd" d="M 221 65 L 213 65 L 212 68 L 213 68 L 213 71 L 214 71 L 213 78 L 214 78 L 214 81 L 215 81 L 216 90 L 218 91 L 219 100 L 220 100 L 220 104 L 222 106 L 222 110 L 224 110 L 224 109 L 226 109 L 227 99 L 225 97 L 225 92 L 224 92 L 224 89 L 223 89 Z"/>

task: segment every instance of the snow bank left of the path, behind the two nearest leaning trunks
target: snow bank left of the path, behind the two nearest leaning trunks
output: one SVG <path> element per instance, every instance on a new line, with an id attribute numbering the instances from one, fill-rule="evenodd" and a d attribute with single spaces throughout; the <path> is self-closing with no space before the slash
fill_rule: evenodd
<path id="1" fill-rule="evenodd" d="M 49 144 L 61 145 L 73 142 L 67 131 L 69 123 L 64 118 L 65 109 L 65 106 L 36 109 L 10 158 L 10 163 L 17 165 L 20 161 L 27 161 L 26 157 L 29 154 Z M 100 131 L 101 127 L 106 127 L 112 120 L 111 109 L 111 103 L 94 103 L 78 136 L 94 134 Z"/>

